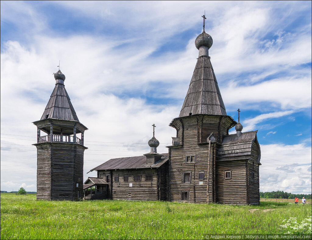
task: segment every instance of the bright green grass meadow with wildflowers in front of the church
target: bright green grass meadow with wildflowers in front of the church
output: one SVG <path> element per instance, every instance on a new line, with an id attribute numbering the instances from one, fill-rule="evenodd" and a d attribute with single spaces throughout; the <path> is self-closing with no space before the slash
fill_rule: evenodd
<path id="1" fill-rule="evenodd" d="M 289 222 L 280 227 L 284 219 Z M 207 234 L 286 232 L 311 234 L 311 204 L 37 201 L 1 193 L 1 239 L 204 239 Z"/>

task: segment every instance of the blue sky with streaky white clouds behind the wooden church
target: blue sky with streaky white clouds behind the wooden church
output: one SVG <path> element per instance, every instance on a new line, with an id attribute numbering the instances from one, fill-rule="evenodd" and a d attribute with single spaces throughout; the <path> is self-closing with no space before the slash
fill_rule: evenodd
<path id="1" fill-rule="evenodd" d="M 243 131 L 259 130 L 260 190 L 310 193 L 310 1 L 1 1 L 1 190 L 36 189 L 32 122 L 59 60 L 89 128 L 85 178 L 110 158 L 147 153 L 153 123 L 167 152 L 203 10 L 227 114 L 240 108 Z"/>

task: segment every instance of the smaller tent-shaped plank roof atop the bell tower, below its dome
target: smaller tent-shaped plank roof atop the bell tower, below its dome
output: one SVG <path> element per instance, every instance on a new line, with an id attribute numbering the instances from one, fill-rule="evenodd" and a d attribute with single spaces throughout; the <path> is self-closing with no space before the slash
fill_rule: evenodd
<path id="1" fill-rule="evenodd" d="M 71 99 L 69 98 L 63 84 L 55 84 L 55 88 L 42 114 L 41 120 L 46 119 L 46 115 L 48 115 L 47 118 L 56 118 L 79 122 L 75 109 L 71 104 Z"/>

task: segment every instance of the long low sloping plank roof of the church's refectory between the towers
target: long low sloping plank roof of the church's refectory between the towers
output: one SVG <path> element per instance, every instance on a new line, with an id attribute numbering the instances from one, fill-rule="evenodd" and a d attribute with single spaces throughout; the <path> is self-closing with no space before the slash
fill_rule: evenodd
<path id="1" fill-rule="evenodd" d="M 168 161 L 168 153 L 162 153 L 163 157 L 154 165 L 146 163 L 146 156 L 112 158 L 107 162 L 93 168 L 91 171 L 109 170 L 109 169 L 129 169 L 129 168 L 158 168 Z"/>

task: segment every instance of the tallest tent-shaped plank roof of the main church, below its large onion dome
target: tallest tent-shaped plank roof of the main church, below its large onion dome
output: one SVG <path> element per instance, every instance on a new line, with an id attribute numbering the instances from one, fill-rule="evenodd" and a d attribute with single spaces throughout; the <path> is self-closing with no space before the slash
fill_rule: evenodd
<path id="1" fill-rule="evenodd" d="M 193 114 L 227 115 L 210 58 L 197 59 L 180 116 Z"/>

